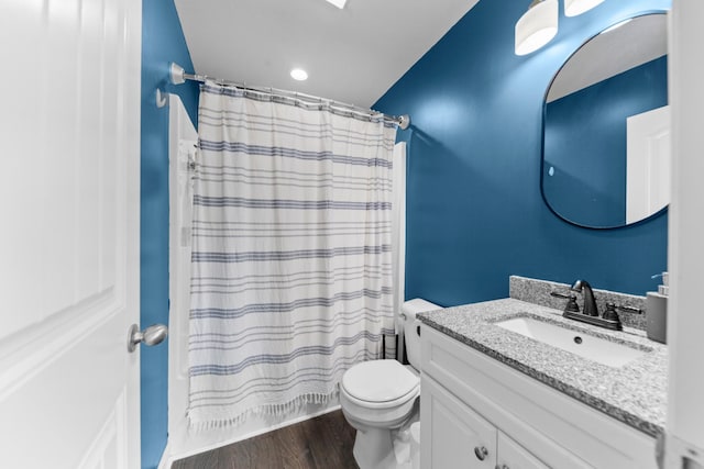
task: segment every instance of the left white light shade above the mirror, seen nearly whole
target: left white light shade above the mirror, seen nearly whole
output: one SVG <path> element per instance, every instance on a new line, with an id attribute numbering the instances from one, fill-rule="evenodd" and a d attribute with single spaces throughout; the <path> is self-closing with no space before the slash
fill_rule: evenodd
<path id="1" fill-rule="evenodd" d="M 558 0 L 534 1 L 516 23 L 516 55 L 530 54 L 558 34 Z"/>

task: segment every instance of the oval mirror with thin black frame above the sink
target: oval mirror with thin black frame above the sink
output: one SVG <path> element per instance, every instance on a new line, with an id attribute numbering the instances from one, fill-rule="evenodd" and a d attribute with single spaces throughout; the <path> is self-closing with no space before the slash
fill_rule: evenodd
<path id="1" fill-rule="evenodd" d="M 570 223 L 625 226 L 670 202 L 667 23 L 645 14 L 604 30 L 548 88 L 542 196 Z"/>

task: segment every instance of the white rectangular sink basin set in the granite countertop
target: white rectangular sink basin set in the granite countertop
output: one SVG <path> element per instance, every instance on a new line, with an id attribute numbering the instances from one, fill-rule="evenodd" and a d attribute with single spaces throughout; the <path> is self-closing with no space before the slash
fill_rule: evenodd
<path id="1" fill-rule="evenodd" d="M 534 317 L 515 317 L 496 325 L 614 368 L 623 367 L 647 354 L 625 344 L 605 340 Z"/>

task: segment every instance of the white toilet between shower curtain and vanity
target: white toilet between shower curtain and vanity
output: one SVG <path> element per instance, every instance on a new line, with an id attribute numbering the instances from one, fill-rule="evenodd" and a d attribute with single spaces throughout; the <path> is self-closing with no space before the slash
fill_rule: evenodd
<path id="1" fill-rule="evenodd" d="M 439 309 L 422 299 L 403 304 L 409 366 L 396 360 L 371 360 L 352 366 L 342 376 L 340 405 L 356 429 L 353 454 L 360 469 L 411 467 L 409 424 L 418 421 L 420 397 L 420 323 L 416 314 Z M 415 428 L 418 433 L 417 424 Z"/>

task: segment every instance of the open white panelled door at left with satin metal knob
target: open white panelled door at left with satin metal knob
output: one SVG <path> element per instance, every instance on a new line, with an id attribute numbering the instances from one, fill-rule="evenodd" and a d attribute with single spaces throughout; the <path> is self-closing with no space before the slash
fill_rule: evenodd
<path id="1" fill-rule="evenodd" d="M 0 466 L 136 468 L 141 0 L 0 0 Z"/>

